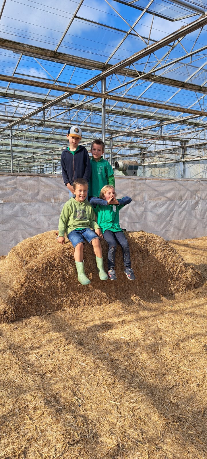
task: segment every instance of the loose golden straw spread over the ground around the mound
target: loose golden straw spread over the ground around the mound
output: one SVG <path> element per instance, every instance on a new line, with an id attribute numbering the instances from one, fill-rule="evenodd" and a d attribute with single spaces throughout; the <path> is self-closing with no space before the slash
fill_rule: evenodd
<path id="1" fill-rule="evenodd" d="M 179 244 L 207 269 L 207 238 Z M 206 459 L 206 298 L 207 282 L 0 324 L 0 459 Z"/>

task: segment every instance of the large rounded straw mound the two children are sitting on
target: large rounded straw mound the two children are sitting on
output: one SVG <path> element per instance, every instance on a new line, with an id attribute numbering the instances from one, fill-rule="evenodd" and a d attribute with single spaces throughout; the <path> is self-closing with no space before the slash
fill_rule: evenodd
<path id="1" fill-rule="evenodd" d="M 20 242 L 0 261 L 0 320 L 9 322 L 71 306 L 96 307 L 131 295 L 169 295 L 202 284 L 201 272 L 187 266 L 161 237 L 143 231 L 126 232 L 126 236 L 136 280 L 128 280 L 123 273 L 118 246 L 117 281 L 101 281 L 93 247 L 85 244 L 84 266 L 91 280 L 87 286 L 78 282 L 72 244 L 58 244 L 55 231 Z M 101 245 L 107 270 L 108 246 L 106 241 L 101 241 Z"/>

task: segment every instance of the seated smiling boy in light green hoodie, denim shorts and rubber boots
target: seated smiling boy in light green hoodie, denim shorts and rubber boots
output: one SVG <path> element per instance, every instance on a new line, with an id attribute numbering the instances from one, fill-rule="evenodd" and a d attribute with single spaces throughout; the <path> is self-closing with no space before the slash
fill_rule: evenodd
<path id="1" fill-rule="evenodd" d="M 104 271 L 102 249 L 99 240 L 103 235 L 100 226 L 95 222 L 94 209 L 86 199 L 88 193 L 88 183 L 86 180 L 74 180 L 73 193 L 75 197 L 71 197 L 62 208 L 58 225 L 59 236 L 57 242 L 65 244 L 66 232 L 69 241 L 75 247 L 75 264 L 78 272 L 78 280 L 82 285 L 90 284 L 90 279 L 86 277 L 84 271 L 84 243 L 88 241 L 92 244 L 99 277 L 101 280 L 107 280 L 108 276 Z"/>

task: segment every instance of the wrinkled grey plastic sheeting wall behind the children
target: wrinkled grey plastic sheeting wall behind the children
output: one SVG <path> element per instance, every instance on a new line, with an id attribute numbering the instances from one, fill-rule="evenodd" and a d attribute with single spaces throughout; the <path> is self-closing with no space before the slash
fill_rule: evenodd
<path id="1" fill-rule="evenodd" d="M 206 179 L 117 177 L 116 191 L 132 198 L 120 211 L 122 228 L 167 240 L 207 235 Z M 67 199 L 60 176 L 0 175 L 0 255 L 27 237 L 58 229 Z"/>

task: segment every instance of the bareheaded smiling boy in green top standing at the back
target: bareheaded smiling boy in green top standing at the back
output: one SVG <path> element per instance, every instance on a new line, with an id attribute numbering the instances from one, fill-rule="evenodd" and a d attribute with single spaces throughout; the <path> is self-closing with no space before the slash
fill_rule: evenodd
<path id="1" fill-rule="evenodd" d="M 98 197 L 101 188 L 112 185 L 115 188 L 114 172 L 111 164 L 103 158 L 104 142 L 96 139 L 92 142 L 90 159 L 91 175 L 89 180 L 89 196 Z M 90 198 L 89 198 L 90 199 Z"/>

